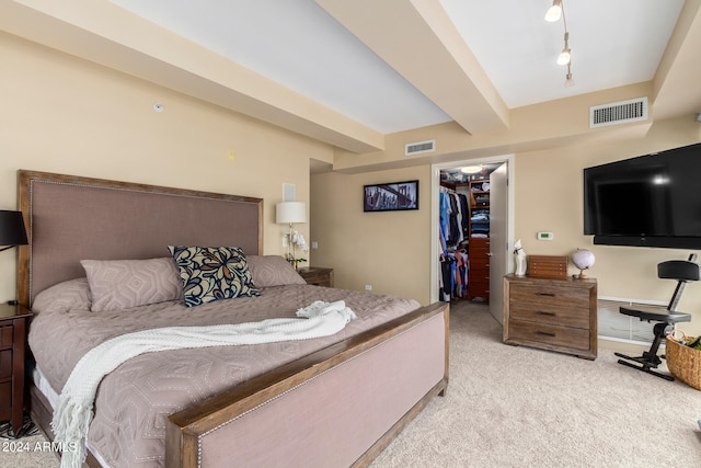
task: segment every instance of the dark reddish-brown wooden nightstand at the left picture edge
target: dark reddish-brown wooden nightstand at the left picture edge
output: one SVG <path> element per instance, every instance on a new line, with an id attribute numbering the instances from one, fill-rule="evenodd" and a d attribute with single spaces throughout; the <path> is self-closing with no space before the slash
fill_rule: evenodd
<path id="1" fill-rule="evenodd" d="M 22 306 L 0 305 L 0 421 L 10 421 L 16 434 L 24 409 L 24 350 L 32 312 Z"/>

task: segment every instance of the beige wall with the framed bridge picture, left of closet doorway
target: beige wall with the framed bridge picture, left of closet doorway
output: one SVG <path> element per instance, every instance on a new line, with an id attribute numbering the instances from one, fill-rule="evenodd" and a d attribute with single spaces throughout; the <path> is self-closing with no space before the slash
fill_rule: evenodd
<path id="1" fill-rule="evenodd" d="M 418 210 L 363 212 L 363 185 L 418 180 Z M 311 178 L 314 264 L 334 269 L 335 285 L 427 304 L 430 295 L 430 169 Z"/>

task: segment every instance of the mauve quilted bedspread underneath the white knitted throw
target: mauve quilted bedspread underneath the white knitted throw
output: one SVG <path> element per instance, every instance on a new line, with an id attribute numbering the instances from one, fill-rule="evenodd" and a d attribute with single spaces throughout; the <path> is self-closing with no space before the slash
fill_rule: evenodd
<path id="1" fill-rule="evenodd" d="M 164 421 L 169 414 L 420 307 L 414 300 L 393 296 L 309 285 L 265 287 L 261 288 L 260 297 L 195 308 L 185 308 L 175 301 L 115 312 L 91 312 L 89 306 L 69 307 L 76 297 L 87 295 L 87 289 L 83 290 L 87 287 L 82 279 L 72 281 L 68 296 L 64 290 L 58 301 L 37 298 L 34 304 L 37 315 L 31 326 L 30 347 L 38 368 L 57 392 L 83 354 L 123 333 L 169 326 L 295 317 L 297 309 L 314 300 L 343 299 L 358 316 L 343 331 L 324 339 L 168 351 L 126 362 L 100 385 L 88 436 L 89 447 L 114 467 L 162 466 Z"/>

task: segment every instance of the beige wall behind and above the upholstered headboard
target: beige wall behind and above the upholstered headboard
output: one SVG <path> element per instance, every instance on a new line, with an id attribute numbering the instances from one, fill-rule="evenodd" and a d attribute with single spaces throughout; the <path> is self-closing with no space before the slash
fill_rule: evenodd
<path id="1" fill-rule="evenodd" d="M 0 209 L 16 208 L 18 169 L 255 196 L 265 253 L 284 253 L 283 183 L 308 202 L 309 158 L 331 158 L 327 145 L 4 33 L 0 56 Z M 15 256 L 0 253 L 2 301 L 15 297 Z"/>

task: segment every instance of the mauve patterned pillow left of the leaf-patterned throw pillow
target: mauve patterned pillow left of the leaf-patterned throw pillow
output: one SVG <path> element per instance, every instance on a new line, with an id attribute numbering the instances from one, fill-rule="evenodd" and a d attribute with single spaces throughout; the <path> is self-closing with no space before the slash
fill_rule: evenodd
<path id="1" fill-rule="evenodd" d="M 183 297 L 173 259 L 81 260 L 93 312 L 128 309 Z"/>

